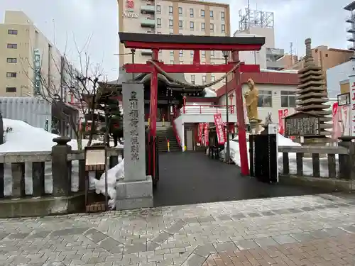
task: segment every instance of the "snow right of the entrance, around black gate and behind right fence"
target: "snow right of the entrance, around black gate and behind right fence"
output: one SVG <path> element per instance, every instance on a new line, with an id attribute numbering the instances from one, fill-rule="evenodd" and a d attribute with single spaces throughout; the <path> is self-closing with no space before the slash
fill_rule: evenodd
<path id="1" fill-rule="evenodd" d="M 246 148 L 249 150 L 249 134 L 246 134 Z M 239 153 L 239 142 L 238 142 L 238 136 L 231 140 L 229 142 L 229 147 L 230 147 L 230 155 L 231 155 L 231 160 L 233 162 L 240 166 L 241 165 L 241 160 L 240 160 L 240 153 Z M 300 146 L 300 143 L 295 143 L 293 140 L 290 140 L 289 138 L 285 138 L 283 135 L 278 134 L 278 145 L 279 146 Z M 289 153 L 288 154 L 288 160 L 289 160 L 289 165 L 290 165 L 290 174 L 296 174 L 297 173 L 297 165 L 296 165 L 296 154 L 295 153 Z M 248 164 L 249 162 L 249 155 L 248 155 Z M 337 171 L 339 170 L 339 163 L 337 160 Z M 278 153 L 278 172 L 282 173 L 283 172 L 283 153 Z M 313 175 L 313 167 L 312 167 L 312 158 L 303 158 L 303 174 L 305 175 Z M 321 177 L 328 177 L 328 159 L 327 157 L 320 158 L 320 176 Z"/>

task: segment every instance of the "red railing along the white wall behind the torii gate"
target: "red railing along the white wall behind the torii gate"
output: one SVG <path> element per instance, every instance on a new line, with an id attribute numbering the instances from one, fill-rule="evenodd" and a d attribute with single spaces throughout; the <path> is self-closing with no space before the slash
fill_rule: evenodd
<path id="1" fill-rule="evenodd" d="M 187 104 L 182 106 L 178 110 L 177 115 L 180 116 L 181 113 L 190 114 L 214 114 L 214 113 L 226 113 L 226 105 L 195 105 Z M 229 113 L 234 113 L 234 106 L 228 106 Z"/>

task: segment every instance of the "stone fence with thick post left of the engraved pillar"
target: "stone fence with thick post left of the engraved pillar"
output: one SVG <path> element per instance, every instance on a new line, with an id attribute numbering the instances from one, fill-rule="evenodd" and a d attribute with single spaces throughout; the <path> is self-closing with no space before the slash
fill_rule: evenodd
<path id="1" fill-rule="evenodd" d="M 109 148 L 109 166 L 123 157 L 122 148 Z M 6 199 L 72 196 L 83 193 L 87 179 L 84 151 L 66 143 L 51 152 L 0 153 L 0 204 Z"/>

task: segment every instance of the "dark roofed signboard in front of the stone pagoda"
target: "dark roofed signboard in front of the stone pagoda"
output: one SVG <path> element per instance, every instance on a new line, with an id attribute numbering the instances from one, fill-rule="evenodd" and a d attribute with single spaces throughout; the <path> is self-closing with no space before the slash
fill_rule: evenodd
<path id="1" fill-rule="evenodd" d="M 305 113 L 288 116 L 285 118 L 285 134 L 303 137 L 320 135 L 320 117 Z"/>

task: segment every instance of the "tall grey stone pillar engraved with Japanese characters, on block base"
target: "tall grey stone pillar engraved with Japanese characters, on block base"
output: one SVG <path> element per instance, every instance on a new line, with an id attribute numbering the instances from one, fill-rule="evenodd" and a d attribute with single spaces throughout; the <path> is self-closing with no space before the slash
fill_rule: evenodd
<path id="1" fill-rule="evenodd" d="M 153 182 L 146 176 L 143 84 L 122 84 L 124 180 L 116 183 L 116 210 L 153 207 Z"/>

